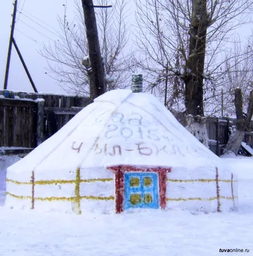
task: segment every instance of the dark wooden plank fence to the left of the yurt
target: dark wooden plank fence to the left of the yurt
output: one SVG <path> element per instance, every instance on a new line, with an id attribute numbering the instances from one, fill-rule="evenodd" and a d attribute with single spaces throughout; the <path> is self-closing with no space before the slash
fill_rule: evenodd
<path id="1" fill-rule="evenodd" d="M 0 90 L 0 148 L 35 148 L 89 103 L 86 97 Z"/>

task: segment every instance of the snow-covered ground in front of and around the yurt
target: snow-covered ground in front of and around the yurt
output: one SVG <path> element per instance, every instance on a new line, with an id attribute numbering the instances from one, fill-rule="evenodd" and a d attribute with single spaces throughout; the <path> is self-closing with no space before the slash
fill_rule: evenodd
<path id="1" fill-rule="evenodd" d="M 13 157 L 0 159 L 0 184 Z M 15 211 L 0 207 L 1 256 L 253 255 L 253 157 L 224 158 L 238 173 L 238 212 L 151 211 L 98 215 Z M 5 189 L 1 186 L 0 189 Z M 4 192 L 0 202 L 4 204 Z"/>

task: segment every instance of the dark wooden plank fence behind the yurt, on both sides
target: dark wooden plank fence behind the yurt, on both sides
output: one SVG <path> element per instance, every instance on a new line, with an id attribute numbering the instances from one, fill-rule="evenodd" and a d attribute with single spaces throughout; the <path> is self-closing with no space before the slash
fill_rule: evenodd
<path id="1" fill-rule="evenodd" d="M 0 90 L 0 147 L 34 148 L 89 103 L 86 97 Z M 231 118 L 206 118 L 208 144 L 217 156 L 222 154 L 229 127 L 235 122 Z M 246 132 L 244 141 L 253 147 L 252 122 L 250 131 Z"/>

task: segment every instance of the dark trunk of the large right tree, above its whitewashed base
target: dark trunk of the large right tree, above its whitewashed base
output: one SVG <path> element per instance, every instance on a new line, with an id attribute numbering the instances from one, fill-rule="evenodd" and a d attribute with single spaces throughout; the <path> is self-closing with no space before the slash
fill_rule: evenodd
<path id="1" fill-rule="evenodd" d="M 207 28 L 206 0 L 193 0 L 189 58 L 186 65 L 187 78 L 185 79 L 185 106 L 188 115 L 204 115 L 203 73 Z"/>

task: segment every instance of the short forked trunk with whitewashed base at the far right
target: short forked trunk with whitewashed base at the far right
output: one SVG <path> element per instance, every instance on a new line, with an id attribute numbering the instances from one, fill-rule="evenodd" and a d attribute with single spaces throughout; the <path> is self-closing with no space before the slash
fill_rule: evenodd
<path id="1" fill-rule="evenodd" d="M 228 154 L 229 152 L 233 152 L 237 156 L 241 146 L 241 141 L 243 141 L 245 131 L 249 129 L 250 120 L 253 114 L 253 91 L 250 92 L 246 118 L 243 116 L 243 99 L 241 89 L 236 89 L 234 92 L 234 106 L 236 108 L 236 131 L 229 137 L 224 153 Z"/>

